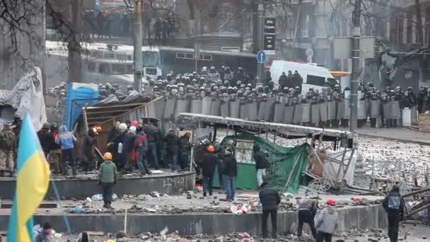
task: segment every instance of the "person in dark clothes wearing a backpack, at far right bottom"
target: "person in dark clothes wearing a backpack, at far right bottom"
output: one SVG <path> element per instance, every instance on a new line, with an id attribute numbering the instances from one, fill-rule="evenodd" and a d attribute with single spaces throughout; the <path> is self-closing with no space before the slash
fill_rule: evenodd
<path id="1" fill-rule="evenodd" d="M 398 185 L 393 185 L 382 205 L 388 216 L 388 237 L 391 242 L 396 242 L 399 234 L 399 223 L 405 215 L 405 202 L 400 195 Z"/>

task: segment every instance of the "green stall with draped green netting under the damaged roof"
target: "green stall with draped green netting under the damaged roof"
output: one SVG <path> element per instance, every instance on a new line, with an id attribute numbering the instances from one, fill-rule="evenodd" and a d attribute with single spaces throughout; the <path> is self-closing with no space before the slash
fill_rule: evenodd
<path id="1" fill-rule="evenodd" d="M 269 154 L 269 168 L 266 171 L 266 181 L 279 191 L 284 190 L 284 185 L 289 180 L 288 192 L 297 192 L 301 185 L 303 171 L 306 169 L 309 145 L 301 144 L 295 147 L 284 147 L 274 144 L 252 135 L 228 136 L 221 144 L 228 140 L 233 140 L 236 146 L 236 160 L 238 161 L 238 178 L 236 178 L 236 188 L 256 189 L 257 171 L 252 154 L 252 146 L 259 144 L 262 151 Z M 291 173 L 291 170 L 294 171 Z M 291 178 L 289 175 L 291 173 Z M 217 174 L 216 174 L 217 175 Z M 219 185 L 217 176 L 214 178 L 214 185 Z"/>

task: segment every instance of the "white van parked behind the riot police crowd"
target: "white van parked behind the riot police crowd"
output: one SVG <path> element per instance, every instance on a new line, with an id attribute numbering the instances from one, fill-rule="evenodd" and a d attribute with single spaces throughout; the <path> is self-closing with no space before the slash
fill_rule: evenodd
<path id="1" fill-rule="evenodd" d="M 294 71 L 298 71 L 298 74 L 303 78 L 303 84 L 301 86 L 302 94 L 307 93 L 309 88 L 321 91 L 322 87 L 325 85 L 325 81 L 330 81 L 330 83 L 336 81 L 327 68 L 317 67 L 313 64 L 275 60 L 272 62 L 272 66 L 270 67 L 272 81 L 275 86 L 279 86 L 278 80 L 282 72 L 285 72 L 285 74 L 288 75 L 288 71 L 291 71 L 293 74 Z"/>

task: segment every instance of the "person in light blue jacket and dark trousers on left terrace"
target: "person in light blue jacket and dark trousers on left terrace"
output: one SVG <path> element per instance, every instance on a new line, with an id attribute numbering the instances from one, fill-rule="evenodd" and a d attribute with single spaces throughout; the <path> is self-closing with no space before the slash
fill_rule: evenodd
<path id="1" fill-rule="evenodd" d="M 61 125 L 59 127 L 59 134 L 56 142 L 62 148 L 63 175 L 67 175 L 67 171 L 69 170 L 67 161 L 70 162 L 72 174 L 76 175 L 75 155 L 74 155 L 74 143 L 76 142 L 76 137 L 71 132 L 67 131 L 66 125 Z"/>

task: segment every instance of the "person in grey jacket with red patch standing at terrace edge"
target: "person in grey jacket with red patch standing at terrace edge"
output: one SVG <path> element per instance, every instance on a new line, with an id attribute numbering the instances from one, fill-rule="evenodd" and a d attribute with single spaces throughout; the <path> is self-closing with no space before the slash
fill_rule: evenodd
<path id="1" fill-rule="evenodd" d="M 148 152 L 148 139 L 142 125 L 136 127 L 136 138 L 134 141 L 134 150 L 132 151 L 132 159 L 136 160 L 137 168 L 141 175 L 151 174 L 148 163 L 146 163 L 146 153 Z"/>

